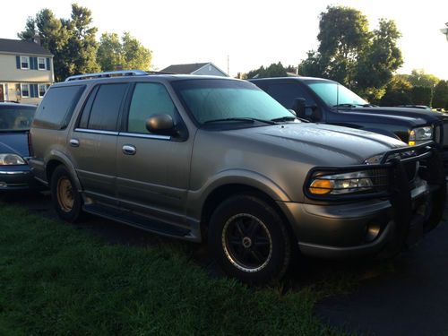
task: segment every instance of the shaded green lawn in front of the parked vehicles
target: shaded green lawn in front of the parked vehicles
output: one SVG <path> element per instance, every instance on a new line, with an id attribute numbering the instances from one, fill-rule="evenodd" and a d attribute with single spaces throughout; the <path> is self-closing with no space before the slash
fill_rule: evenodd
<path id="1" fill-rule="evenodd" d="M 0 203 L 0 335 L 338 335 L 328 288 L 213 279 L 182 248 L 109 245 Z"/>

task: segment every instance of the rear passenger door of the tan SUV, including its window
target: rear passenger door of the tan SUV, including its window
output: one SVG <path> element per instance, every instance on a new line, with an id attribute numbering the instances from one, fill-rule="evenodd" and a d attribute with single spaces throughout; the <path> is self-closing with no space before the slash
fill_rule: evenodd
<path id="1" fill-rule="evenodd" d="M 69 148 L 87 195 L 98 202 L 116 202 L 117 125 L 129 84 L 99 84 L 90 92 L 78 125 L 69 134 Z"/>

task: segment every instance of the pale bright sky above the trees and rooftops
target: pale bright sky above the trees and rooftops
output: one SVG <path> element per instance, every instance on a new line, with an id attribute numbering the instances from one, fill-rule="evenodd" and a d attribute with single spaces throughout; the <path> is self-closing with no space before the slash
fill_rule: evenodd
<path id="1" fill-rule="evenodd" d="M 3 1 L 0 38 L 17 39 L 28 16 L 49 8 L 69 18 L 74 0 Z M 328 5 L 347 5 L 364 13 L 370 28 L 380 18 L 401 31 L 404 65 L 399 73 L 424 69 L 448 80 L 448 1 L 393 0 L 77 0 L 90 8 L 93 25 L 121 35 L 129 31 L 153 52 L 152 68 L 212 62 L 235 76 L 281 62 L 297 65 L 318 47 L 319 14 Z"/>

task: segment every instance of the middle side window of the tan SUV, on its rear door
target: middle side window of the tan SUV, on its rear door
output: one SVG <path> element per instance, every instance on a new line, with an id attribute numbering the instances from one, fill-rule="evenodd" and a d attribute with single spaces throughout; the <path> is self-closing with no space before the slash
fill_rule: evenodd
<path id="1" fill-rule="evenodd" d="M 99 86 L 91 106 L 88 128 L 116 131 L 116 122 L 127 86 L 127 83 L 103 84 Z M 84 111 L 84 113 L 86 112 Z"/>

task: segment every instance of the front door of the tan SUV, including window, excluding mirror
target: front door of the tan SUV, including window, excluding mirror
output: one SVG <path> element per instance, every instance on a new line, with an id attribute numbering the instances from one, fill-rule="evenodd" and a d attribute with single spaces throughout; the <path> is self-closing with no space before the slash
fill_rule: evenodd
<path id="1" fill-rule="evenodd" d="M 125 132 L 116 143 L 118 198 L 135 213 L 181 224 L 193 140 L 149 133 L 146 120 L 156 114 L 168 114 L 182 123 L 165 86 L 136 83 Z"/>

